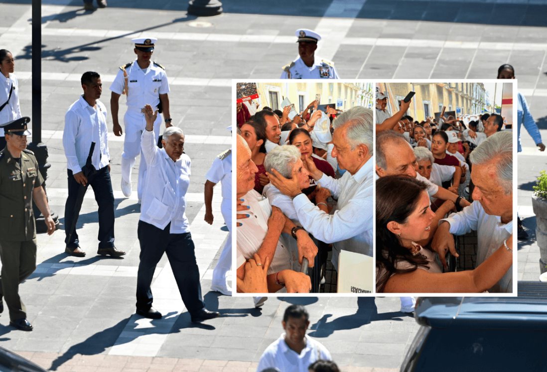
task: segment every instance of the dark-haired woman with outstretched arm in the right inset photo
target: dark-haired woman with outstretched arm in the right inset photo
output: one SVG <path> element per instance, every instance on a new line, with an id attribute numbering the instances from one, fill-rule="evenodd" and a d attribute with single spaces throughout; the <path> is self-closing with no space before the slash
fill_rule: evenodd
<path id="1" fill-rule="evenodd" d="M 474 270 L 442 273 L 434 253 L 415 243 L 433 219 L 424 183 L 405 175 L 376 181 L 376 292 L 484 292 L 513 264 L 511 235 Z"/>

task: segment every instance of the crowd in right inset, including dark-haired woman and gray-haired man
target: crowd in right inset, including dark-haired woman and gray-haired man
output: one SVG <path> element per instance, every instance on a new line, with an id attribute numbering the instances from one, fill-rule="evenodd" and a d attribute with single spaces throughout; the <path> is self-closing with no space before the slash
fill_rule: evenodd
<path id="1" fill-rule="evenodd" d="M 392 116 L 386 101 L 377 95 L 376 291 L 511 292 L 513 136 L 504 118 L 466 125 L 443 109 L 418 122 L 406 114 L 411 101 Z M 476 266 L 451 272 L 452 235 L 472 230 Z"/>

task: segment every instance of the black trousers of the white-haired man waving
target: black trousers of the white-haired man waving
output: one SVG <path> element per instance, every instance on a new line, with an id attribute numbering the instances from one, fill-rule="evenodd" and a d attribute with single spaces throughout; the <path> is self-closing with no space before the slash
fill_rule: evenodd
<path id="1" fill-rule="evenodd" d="M 197 268 L 194 242 L 190 233 L 170 234 L 171 224 L 163 230 L 139 221 L 137 236 L 141 245 L 137 273 L 137 309 L 152 307 L 152 277 L 164 252 L 173 270 L 184 306 L 190 314 L 205 307 L 201 297 L 200 272 Z"/>

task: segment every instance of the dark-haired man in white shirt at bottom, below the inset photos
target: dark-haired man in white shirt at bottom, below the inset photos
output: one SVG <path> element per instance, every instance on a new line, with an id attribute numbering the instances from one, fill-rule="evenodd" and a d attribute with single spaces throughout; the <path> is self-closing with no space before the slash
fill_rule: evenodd
<path id="1" fill-rule="evenodd" d="M 326 347 L 306 336 L 310 315 L 302 305 L 290 305 L 283 314 L 280 338 L 272 342 L 260 357 L 257 372 L 277 368 L 283 372 L 307 371 L 318 359 L 332 360 Z"/>

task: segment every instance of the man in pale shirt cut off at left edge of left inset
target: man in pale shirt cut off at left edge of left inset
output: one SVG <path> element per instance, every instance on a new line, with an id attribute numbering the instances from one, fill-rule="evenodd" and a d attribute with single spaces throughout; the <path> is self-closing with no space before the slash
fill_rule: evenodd
<path id="1" fill-rule="evenodd" d="M 283 287 L 287 292 L 309 292 L 310 277 L 290 269 L 293 262 L 281 233 L 290 234 L 296 240 L 299 263 L 305 257 L 313 266 L 317 247 L 304 229 L 285 217 L 279 208 L 271 207 L 268 200 L 253 189 L 258 168 L 251 159 L 247 142 L 239 135 L 236 167 L 237 211 L 243 212 L 237 214 L 237 277 L 244 280 L 246 262 L 258 253 L 261 262 L 271 262 L 266 277 L 269 292 L 277 292 Z M 237 291 L 242 292 L 239 284 Z"/>

